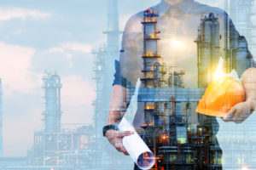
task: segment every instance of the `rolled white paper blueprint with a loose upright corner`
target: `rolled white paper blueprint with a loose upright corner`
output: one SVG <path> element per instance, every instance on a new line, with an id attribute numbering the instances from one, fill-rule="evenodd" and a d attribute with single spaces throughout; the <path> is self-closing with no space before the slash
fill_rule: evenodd
<path id="1" fill-rule="evenodd" d="M 141 169 L 150 169 L 154 166 L 154 154 L 149 150 L 147 144 L 144 143 L 143 139 L 141 139 L 135 131 L 135 128 L 132 126 L 134 116 L 137 112 L 137 95 L 140 83 L 141 82 L 138 79 L 135 94 L 131 97 L 131 102 L 125 112 L 125 116 L 119 123 L 119 130 L 134 132 L 134 134 L 124 137 L 122 142 L 125 150 L 127 150 L 131 159 L 137 164 L 137 167 Z"/>

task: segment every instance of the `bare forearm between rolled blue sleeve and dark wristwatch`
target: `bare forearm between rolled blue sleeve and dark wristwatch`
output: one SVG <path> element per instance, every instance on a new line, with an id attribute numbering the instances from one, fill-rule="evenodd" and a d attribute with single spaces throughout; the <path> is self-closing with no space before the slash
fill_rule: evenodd
<path id="1" fill-rule="evenodd" d="M 126 88 L 118 84 L 113 86 L 109 104 L 108 124 L 118 122 L 121 118 L 121 109 L 124 107 Z"/>

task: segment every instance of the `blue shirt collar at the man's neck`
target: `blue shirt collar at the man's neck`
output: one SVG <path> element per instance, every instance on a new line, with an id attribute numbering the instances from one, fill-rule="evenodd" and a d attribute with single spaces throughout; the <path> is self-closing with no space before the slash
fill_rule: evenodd
<path id="1" fill-rule="evenodd" d="M 169 3 L 166 3 L 164 0 L 161 0 L 160 2 L 160 16 L 162 14 L 165 14 L 169 8 L 180 8 L 183 13 L 189 14 L 191 9 L 193 8 L 193 4 L 195 3 L 194 0 L 185 0 L 182 3 L 177 3 L 175 5 L 170 5 Z"/>

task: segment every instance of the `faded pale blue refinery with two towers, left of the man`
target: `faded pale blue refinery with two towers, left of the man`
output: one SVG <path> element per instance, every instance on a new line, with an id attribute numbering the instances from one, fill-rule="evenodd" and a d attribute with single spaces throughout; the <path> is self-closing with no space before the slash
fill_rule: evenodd
<path id="1" fill-rule="evenodd" d="M 107 46 L 93 52 L 96 56 L 96 101 L 94 127 L 75 129 L 61 127 L 61 78 L 45 73 L 44 130 L 35 131 L 32 150 L 28 150 L 26 162 L 4 166 L 5 169 L 131 169 L 130 157 L 122 156 L 102 137 L 102 127 L 108 120 L 108 102 L 112 89 L 114 60 L 119 58 L 118 0 L 108 0 Z M 115 158 L 119 157 L 117 161 Z M 129 160 L 129 161 L 127 161 Z M 128 163 L 128 165 L 127 165 Z"/>

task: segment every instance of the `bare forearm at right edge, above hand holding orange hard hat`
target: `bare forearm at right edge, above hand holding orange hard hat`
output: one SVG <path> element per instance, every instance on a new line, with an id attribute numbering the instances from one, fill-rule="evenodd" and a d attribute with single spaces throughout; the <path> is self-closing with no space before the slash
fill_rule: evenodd
<path id="1" fill-rule="evenodd" d="M 241 82 L 245 88 L 246 101 L 253 112 L 256 106 L 256 68 L 252 67 L 244 71 L 241 75 Z"/>

